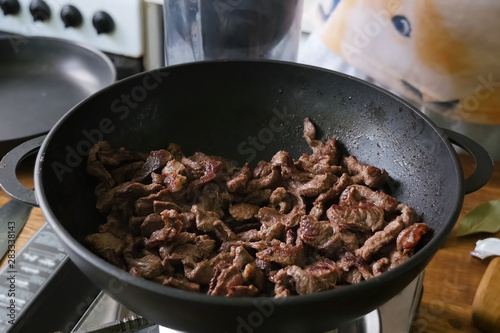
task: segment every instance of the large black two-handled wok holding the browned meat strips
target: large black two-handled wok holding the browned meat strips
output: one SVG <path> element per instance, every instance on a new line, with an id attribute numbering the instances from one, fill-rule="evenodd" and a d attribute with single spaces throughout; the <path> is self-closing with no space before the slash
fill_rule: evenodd
<path id="1" fill-rule="evenodd" d="M 104 222 L 95 180 L 85 171 L 92 143 L 149 152 L 169 142 L 238 161 L 294 158 L 308 147 L 303 119 L 321 139 L 387 170 L 387 190 L 413 206 L 433 237 L 408 262 L 371 280 L 285 299 L 226 298 L 177 290 L 136 278 L 92 254 L 83 239 Z M 470 151 L 476 171 L 464 180 L 451 142 Z M 41 147 L 40 147 L 41 146 Z M 37 151 L 35 192 L 13 169 Z M 464 194 L 483 186 L 493 163 L 460 134 L 437 128 L 403 100 L 363 81 L 319 68 L 273 61 L 191 63 L 138 74 L 109 86 L 68 112 L 46 138 L 2 161 L 4 189 L 38 204 L 69 257 L 97 286 L 150 321 L 187 332 L 325 332 L 377 308 L 409 284 L 451 232 Z"/>

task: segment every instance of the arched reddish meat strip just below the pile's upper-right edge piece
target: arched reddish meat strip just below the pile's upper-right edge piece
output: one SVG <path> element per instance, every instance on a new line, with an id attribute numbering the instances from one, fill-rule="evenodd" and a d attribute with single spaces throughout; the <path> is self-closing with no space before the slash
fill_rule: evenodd
<path id="1" fill-rule="evenodd" d="M 394 213 L 398 207 L 398 201 L 388 194 L 373 191 L 362 185 L 350 185 L 340 195 L 340 206 L 359 206 L 361 201 L 366 201 L 375 206 L 382 207 L 387 213 Z"/>

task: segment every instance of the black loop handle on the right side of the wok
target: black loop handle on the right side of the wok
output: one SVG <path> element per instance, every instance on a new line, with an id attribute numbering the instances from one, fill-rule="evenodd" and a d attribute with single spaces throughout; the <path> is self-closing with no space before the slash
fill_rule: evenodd
<path id="1" fill-rule="evenodd" d="M 479 143 L 455 131 L 442 128 L 451 143 L 466 150 L 474 157 L 476 169 L 464 180 L 464 192 L 469 194 L 486 185 L 493 174 L 493 160 L 490 154 Z"/>

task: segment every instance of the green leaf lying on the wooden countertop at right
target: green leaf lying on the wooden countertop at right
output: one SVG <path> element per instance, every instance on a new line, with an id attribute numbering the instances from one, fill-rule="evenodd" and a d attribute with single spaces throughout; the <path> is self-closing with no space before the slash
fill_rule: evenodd
<path id="1" fill-rule="evenodd" d="M 458 222 L 457 236 L 477 232 L 495 233 L 500 230 L 500 200 L 481 204 Z"/>

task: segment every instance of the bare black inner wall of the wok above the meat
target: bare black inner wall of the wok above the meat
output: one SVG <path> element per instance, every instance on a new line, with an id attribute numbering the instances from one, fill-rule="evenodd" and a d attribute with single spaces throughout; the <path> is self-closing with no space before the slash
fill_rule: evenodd
<path id="1" fill-rule="evenodd" d="M 450 146 L 427 118 L 372 86 L 316 68 L 275 62 L 213 62 L 160 69 L 121 81 L 78 105 L 51 132 L 41 200 L 79 242 L 104 222 L 96 182 L 85 172 L 92 143 L 149 152 L 179 144 L 239 165 L 278 150 L 298 158 L 309 148 L 302 125 L 335 136 L 346 153 L 387 170 L 387 191 L 449 232 L 461 193 Z"/>

